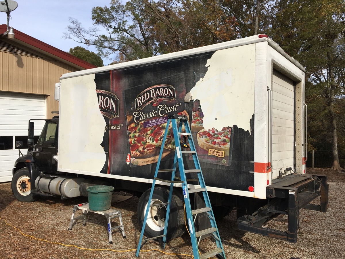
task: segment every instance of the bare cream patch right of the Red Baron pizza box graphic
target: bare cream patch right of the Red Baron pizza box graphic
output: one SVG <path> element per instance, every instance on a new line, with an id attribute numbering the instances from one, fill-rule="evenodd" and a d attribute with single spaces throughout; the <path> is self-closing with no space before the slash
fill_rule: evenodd
<path id="1" fill-rule="evenodd" d="M 254 45 L 247 45 L 218 50 L 207 60 L 204 78 L 187 95 L 200 100 L 206 129 L 237 125 L 250 131 L 254 114 L 254 52 Z"/>

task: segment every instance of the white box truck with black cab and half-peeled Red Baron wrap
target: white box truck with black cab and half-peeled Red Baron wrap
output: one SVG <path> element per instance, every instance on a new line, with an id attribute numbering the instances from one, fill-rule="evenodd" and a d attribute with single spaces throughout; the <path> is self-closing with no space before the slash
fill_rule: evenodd
<path id="1" fill-rule="evenodd" d="M 58 115 L 37 143 L 29 121 L 30 148 L 13 168 L 19 201 L 87 196 L 88 186 L 107 184 L 141 196 L 142 224 L 162 146 L 161 166 L 173 166 L 167 115 L 184 114 L 217 218 L 236 209 L 240 229 L 296 242 L 300 209 L 326 212 L 327 177 L 306 174 L 305 69 L 266 35 L 64 74 L 55 98 Z M 188 188 L 198 188 L 190 177 Z M 158 184 L 152 202 L 164 203 L 169 183 Z M 167 240 L 185 231 L 180 187 Z M 155 237 L 166 210 L 152 208 L 146 234 Z M 267 228 L 280 214 L 287 231 Z"/>

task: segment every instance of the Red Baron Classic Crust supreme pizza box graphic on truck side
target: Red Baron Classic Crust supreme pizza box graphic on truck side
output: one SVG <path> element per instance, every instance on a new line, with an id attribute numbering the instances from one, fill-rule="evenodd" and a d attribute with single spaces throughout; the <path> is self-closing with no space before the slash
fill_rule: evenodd
<path id="1" fill-rule="evenodd" d="M 174 155 L 175 140 L 172 126 L 166 125 L 168 114 L 184 114 L 184 83 L 175 84 L 177 79 L 184 82 L 183 74 L 159 80 L 159 83 L 140 85 L 125 90 L 130 166 L 146 165 L 158 161 L 161 146 L 162 159 Z M 167 139 L 162 143 L 164 133 Z"/>

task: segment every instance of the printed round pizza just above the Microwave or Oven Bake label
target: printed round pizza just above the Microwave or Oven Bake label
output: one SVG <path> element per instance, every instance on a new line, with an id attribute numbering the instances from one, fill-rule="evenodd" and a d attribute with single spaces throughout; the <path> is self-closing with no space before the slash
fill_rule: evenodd
<path id="1" fill-rule="evenodd" d="M 199 146 L 206 150 L 224 151 L 224 156 L 229 156 L 231 127 L 224 127 L 221 131 L 216 128 L 202 129 L 197 133 Z"/>

